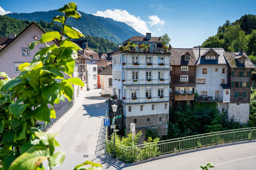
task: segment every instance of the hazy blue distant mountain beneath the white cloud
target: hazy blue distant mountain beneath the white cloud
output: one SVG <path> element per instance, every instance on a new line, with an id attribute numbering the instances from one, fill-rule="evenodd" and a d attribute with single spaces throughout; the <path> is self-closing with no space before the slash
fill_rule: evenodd
<path id="1" fill-rule="evenodd" d="M 79 20 L 68 18 L 67 25 L 76 27 L 83 32 L 83 34 L 108 39 L 114 43 L 122 43 L 132 36 L 142 36 L 124 22 L 117 22 L 111 18 L 97 17 L 82 11 L 79 11 L 79 13 L 81 13 L 82 17 L 79 18 Z M 33 13 L 10 13 L 8 17 L 36 22 L 40 20 L 51 22 L 52 17 L 57 15 L 62 15 L 62 13 L 58 10 L 36 11 Z"/>

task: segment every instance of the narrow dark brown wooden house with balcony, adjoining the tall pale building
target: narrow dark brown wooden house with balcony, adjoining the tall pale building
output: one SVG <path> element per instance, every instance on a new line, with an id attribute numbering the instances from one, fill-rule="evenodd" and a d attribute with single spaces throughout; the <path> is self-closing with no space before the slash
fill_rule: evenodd
<path id="1" fill-rule="evenodd" d="M 191 48 L 172 48 L 170 56 L 170 103 L 192 104 L 195 99 L 196 58 Z"/>

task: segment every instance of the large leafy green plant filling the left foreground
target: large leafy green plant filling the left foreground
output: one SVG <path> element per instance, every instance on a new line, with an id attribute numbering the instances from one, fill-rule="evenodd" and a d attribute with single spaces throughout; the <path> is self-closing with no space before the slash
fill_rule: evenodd
<path id="1" fill-rule="evenodd" d="M 73 97 L 73 86 L 84 86 L 79 78 L 72 78 L 79 46 L 68 38 L 81 38 L 77 29 L 65 25 L 68 17 L 79 19 L 76 3 L 60 8 L 63 15 L 52 20 L 60 22 L 60 32 L 46 32 L 42 38 L 29 45 L 32 50 L 38 43 L 46 47 L 35 54 L 31 63 L 19 66 L 17 78 L 10 79 L 0 73 L 0 164 L 1 169 L 44 169 L 42 162 L 48 160 L 49 168 L 56 167 L 65 159 L 64 152 L 54 152 L 60 146 L 54 139 L 57 134 L 46 134 L 35 128 L 37 121 L 49 122 L 56 118 L 54 104 Z M 60 43 L 52 43 L 58 40 Z M 64 79 L 64 74 L 70 78 Z M 60 83 L 56 79 L 61 79 Z M 93 162 L 84 162 L 101 167 Z M 83 166 L 83 165 L 81 165 Z M 77 166 L 78 169 L 80 166 Z"/>

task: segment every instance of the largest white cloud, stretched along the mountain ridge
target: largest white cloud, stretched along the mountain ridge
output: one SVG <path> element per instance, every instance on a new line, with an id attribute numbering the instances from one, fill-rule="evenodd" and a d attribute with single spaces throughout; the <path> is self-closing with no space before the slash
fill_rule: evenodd
<path id="1" fill-rule="evenodd" d="M 112 18 L 113 20 L 124 22 L 125 24 L 131 26 L 136 31 L 144 34 L 150 32 L 147 26 L 147 23 L 144 20 L 141 20 L 140 17 L 135 17 L 134 15 L 129 14 L 126 10 L 106 10 L 106 11 L 97 11 L 93 15 Z"/>

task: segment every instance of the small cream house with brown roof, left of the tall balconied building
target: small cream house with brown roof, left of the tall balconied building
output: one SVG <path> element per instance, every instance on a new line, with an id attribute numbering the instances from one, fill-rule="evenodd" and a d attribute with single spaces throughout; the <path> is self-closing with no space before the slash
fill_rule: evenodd
<path id="1" fill-rule="evenodd" d="M 112 64 L 99 73 L 101 95 L 111 96 L 112 94 Z"/>

